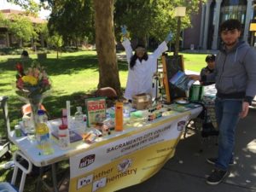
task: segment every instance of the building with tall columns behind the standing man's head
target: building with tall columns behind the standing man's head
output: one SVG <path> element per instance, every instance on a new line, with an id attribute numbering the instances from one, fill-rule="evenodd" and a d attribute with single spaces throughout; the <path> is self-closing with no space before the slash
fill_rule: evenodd
<path id="1" fill-rule="evenodd" d="M 219 25 L 224 20 L 237 19 L 242 24 L 241 38 L 252 44 L 254 32 L 249 26 L 255 15 L 254 0 L 207 0 L 201 3 L 198 15 L 191 20 L 192 27 L 183 32 L 183 49 L 219 49 Z M 200 30 L 200 32 L 199 32 Z"/>

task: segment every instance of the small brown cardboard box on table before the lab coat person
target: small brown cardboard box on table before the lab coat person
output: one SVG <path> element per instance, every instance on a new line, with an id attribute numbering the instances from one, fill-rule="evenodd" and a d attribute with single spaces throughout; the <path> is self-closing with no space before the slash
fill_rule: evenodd
<path id="1" fill-rule="evenodd" d="M 149 94 L 142 93 L 135 96 L 132 96 L 132 108 L 137 108 L 138 110 L 142 110 L 145 108 L 149 108 L 152 103 L 152 98 Z"/>

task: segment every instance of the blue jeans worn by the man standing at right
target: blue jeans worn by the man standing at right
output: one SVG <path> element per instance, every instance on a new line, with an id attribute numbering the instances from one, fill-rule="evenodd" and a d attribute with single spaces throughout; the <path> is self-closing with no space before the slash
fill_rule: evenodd
<path id="1" fill-rule="evenodd" d="M 218 124 L 218 159 L 215 166 L 226 171 L 233 160 L 235 146 L 235 131 L 241 112 L 241 99 L 215 100 L 215 113 Z"/>

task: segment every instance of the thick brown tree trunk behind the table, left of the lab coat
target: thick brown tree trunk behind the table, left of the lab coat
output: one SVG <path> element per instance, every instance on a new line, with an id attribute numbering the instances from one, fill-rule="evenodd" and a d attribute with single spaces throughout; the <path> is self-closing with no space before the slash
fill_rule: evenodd
<path id="1" fill-rule="evenodd" d="M 96 51 L 100 73 L 98 88 L 112 87 L 121 96 L 113 32 L 113 2 L 114 0 L 94 0 Z"/>

